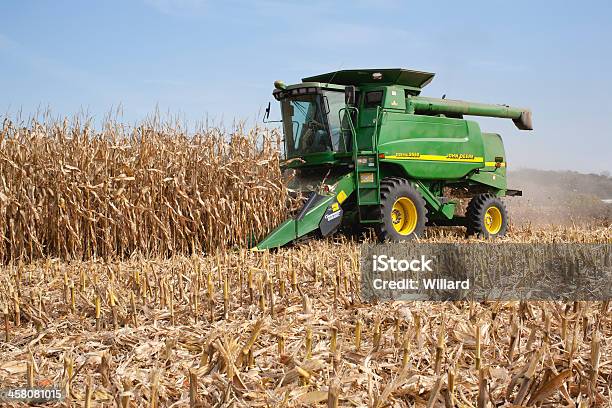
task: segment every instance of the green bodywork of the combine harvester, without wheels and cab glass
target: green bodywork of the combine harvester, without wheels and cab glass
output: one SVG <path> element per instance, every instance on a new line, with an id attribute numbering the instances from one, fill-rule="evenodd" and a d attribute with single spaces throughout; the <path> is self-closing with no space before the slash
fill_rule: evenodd
<path id="1" fill-rule="evenodd" d="M 286 166 L 326 184 L 333 194 L 309 208 L 299 221 L 292 218 L 281 224 L 256 248 L 282 246 L 317 230 L 326 209 L 334 203 L 347 207 L 351 217 L 345 218 L 353 222 L 380 222 L 376 218 L 378 212 L 373 210 L 380 204 L 380 183 L 386 177 L 411 180 L 425 199 L 430 220 L 454 218 L 456 203 L 444 197 L 445 187 L 461 188 L 474 195 L 490 192 L 504 196 L 508 186 L 501 136 L 482 133 L 478 123 L 463 115 L 507 118 L 519 129 L 531 130 L 531 112 L 508 105 L 420 96 L 433 76 L 404 69 L 343 70 L 304 78 L 301 84 L 277 86 L 274 94 L 281 104 L 293 100 L 297 104 L 284 105 L 286 114 L 292 115 L 283 117 L 288 132 L 292 132 L 290 140 L 305 137 L 297 136 L 298 130 L 292 129 L 301 129 L 302 134 L 316 132 L 320 137 L 320 117 L 317 116 L 318 122 L 307 119 L 315 99 L 300 99 L 300 95 L 318 93 L 318 109 L 340 117 L 340 122 L 335 122 L 335 137 L 343 138 L 342 145 L 349 147 L 336 151 L 330 139 L 325 151 L 299 150 L 301 154 L 295 156 L 296 149 L 292 148 L 295 157 L 288 157 Z M 329 100 L 337 100 L 334 92 L 342 91 L 347 92 L 349 101 L 350 95 L 355 95 L 356 102 L 331 112 Z M 296 112 L 304 122 L 295 122 Z M 331 138 L 329 123 L 327 132 Z M 343 175 L 329 181 L 329 174 L 338 171 Z M 340 191 L 343 200 L 338 198 Z"/>

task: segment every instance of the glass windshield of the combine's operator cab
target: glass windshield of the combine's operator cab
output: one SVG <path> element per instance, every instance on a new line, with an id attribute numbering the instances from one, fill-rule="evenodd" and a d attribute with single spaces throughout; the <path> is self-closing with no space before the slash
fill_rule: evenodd
<path id="1" fill-rule="evenodd" d="M 346 152 L 350 137 L 341 126 L 344 93 L 323 91 L 291 95 L 281 100 L 285 149 L 288 158 L 321 152 Z"/>

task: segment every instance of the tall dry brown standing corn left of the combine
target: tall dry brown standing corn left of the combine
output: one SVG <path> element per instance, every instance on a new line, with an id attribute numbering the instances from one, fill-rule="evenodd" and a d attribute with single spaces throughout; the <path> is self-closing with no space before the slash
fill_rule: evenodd
<path id="1" fill-rule="evenodd" d="M 243 246 L 282 221 L 278 134 L 3 121 L 0 261 Z"/>

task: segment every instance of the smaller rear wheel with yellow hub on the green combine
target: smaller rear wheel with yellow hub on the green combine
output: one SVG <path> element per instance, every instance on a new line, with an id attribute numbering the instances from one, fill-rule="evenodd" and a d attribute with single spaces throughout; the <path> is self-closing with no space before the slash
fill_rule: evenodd
<path id="1" fill-rule="evenodd" d="M 470 200 L 467 211 L 467 233 L 482 238 L 506 235 L 508 211 L 503 201 L 493 194 L 479 194 Z M 496 217 L 501 217 L 499 225 Z"/>

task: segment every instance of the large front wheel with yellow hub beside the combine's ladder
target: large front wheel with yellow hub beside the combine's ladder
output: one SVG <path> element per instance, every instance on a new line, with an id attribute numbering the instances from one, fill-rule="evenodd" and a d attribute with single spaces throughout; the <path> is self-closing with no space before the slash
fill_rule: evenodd
<path id="1" fill-rule="evenodd" d="M 410 208 L 413 214 L 416 213 L 416 222 L 414 222 L 413 218 L 407 224 L 404 233 L 400 233 L 394 227 L 394 225 L 399 223 L 407 222 L 407 220 L 402 220 L 401 217 L 398 219 L 399 211 L 397 208 L 396 210 L 393 208 L 399 199 L 408 199 L 409 201 L 402 200 L 402 202 L 414 205 L 414 207 L 410 206 Z M 376 235 L 381 242 L 407 241 L 422 237 L 425 224 L 427 223 L 425 200 L 408 180 L 396 177 L 385 178 L 380 183 L 380 217 L 381 222 L 376 225 Z"/>

